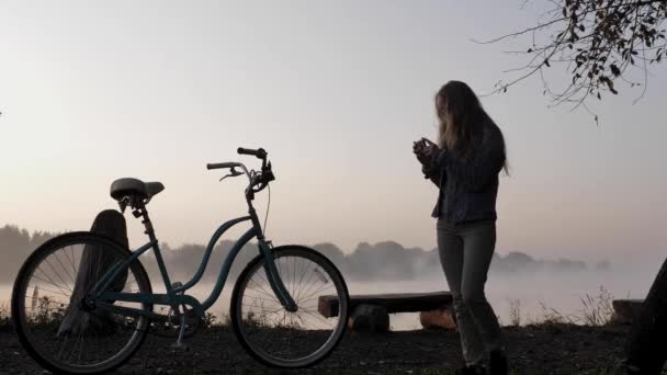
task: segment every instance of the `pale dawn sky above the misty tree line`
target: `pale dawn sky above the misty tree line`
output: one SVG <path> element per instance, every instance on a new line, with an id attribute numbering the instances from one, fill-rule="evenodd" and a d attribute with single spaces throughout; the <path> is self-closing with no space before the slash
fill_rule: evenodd
<path id="1" fill-rule="evenodd" d="M 3 1 L 0 225 L 84 230 L 116 207 L 110 184 L 166 190 L 161 241 L 205 243 L 245 215 L 241 178 L 207 162 L 273 161 L 274 243 L 436 246 L 436 188 L 411 152 L 436 137 L 448 80 L 478 93 L 523 61 L 482 45 L 534 24 L 546 1 Z M 554 80 L 568 79 L 561 70 Z M 665 67 L 585 111 L 550 107 L 538 78 L 483 104 L 511 167 L 497 251 L 584 261 L 662 259 L 667 208 Z M 257 201 L 263 215 L 267 195 Z M 144 243 L 126 215 L 131 245 Z M 234 235 L 238 235 L 236 231 Z"/>

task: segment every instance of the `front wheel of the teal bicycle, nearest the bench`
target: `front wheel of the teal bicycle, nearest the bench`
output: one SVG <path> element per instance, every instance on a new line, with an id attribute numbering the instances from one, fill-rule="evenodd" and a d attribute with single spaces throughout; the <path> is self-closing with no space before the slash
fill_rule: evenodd
<path id="1" fill-rule="evenodd" d="M 319 252 L 299 246 L 273 249 L 274 261 L 297 310 L 287 311 L 269 285 L 264 258 L 255 258 L 238 277 L 230 318 L 241 345 L 272 367 L 307 367 L 329 355 L 342 338 L 349 295 L 338 269 Z M 338 300 L 338 311 L 323 314 L 323 296 Z"/>

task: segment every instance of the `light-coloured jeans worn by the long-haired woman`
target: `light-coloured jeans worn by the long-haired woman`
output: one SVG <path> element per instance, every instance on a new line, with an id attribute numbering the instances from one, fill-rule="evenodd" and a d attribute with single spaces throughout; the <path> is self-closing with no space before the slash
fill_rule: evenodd
<path id="1" fill-rule="evenodd" d="M 454 299 L 466 364 L 479 364 L 486 351 L 504 350 L 498 318 L 484 284 L 496 245 L 495 220 L 450 224 L 438 219 L 440 263 Z"/>

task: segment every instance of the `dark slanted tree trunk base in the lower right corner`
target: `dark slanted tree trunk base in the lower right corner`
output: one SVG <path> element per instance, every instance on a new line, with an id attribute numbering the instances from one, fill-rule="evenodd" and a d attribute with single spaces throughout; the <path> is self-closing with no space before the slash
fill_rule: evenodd
<path id="1" fill-rule="evenodd" d="M 625 342 L 632 374 L 660 374 L 667 360 L 667 260 L 655 277 Z"/>

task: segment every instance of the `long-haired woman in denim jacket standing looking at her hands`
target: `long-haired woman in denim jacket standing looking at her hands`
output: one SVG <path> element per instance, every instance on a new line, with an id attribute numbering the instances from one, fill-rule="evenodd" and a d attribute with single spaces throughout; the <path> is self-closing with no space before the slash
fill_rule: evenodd
<path id="1" fill-rule="evenodd" d="M 454 299 L 466 365 L 462 374 L 484 374 L 489 353 L 491 374 L 507 374 L 500 326 L 484 295 L 496 243 L 498 174 L 505 169 L 502 133 L 473 90 L 450 81 L 436 95 L 439 137 L 422 138 L 414 151 L 426 178 L 440 191 L 438 218 L 440 262 Z"/>

